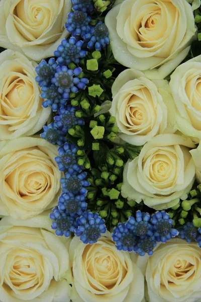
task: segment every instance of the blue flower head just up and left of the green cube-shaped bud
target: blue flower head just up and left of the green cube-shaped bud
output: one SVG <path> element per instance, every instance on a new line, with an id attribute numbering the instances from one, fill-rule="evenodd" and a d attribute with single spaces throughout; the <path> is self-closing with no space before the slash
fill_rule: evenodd
<path id="1" fill-rule="evenodd" d="M 71 37 L 68 41 L 66 39 L 61 41 L 54 55 L 57 57 L 57 62 L 60 65 L 68 65 L 71 62 L 79 63 L 80 58 L 84 58 L 87 51 L 82 49 L 83 41 L 76 41 Z"/>

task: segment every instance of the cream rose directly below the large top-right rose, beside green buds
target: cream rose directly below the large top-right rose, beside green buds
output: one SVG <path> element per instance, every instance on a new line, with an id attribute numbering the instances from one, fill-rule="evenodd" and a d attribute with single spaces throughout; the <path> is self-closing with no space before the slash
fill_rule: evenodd
<path id="1" fill-rule="evenodd" d="M 174 132 L 174 102 L 167 81 L 158 82 L 163 88 L 135 69 L 124 70 L 115 80 L 110 113 L 124 141 L 143 145 L 157 134 Z"/>

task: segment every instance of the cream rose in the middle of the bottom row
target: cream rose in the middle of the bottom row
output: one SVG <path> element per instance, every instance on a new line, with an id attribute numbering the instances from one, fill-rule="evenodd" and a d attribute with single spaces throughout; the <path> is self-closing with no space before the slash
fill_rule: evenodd
<path id="1" fill-rule="evenodd" d="M 74 237 L 69 257 L 74 278 L 72 302 L 144 301 L 144 277 L 135 264 L 135 254 L 118 251 L 110 233 L 93 245 Z"/>

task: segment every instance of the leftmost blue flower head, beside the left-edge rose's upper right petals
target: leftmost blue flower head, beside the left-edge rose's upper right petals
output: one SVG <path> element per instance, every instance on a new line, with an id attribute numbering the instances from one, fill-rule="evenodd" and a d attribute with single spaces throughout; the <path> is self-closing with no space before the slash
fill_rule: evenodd
<path id="1" fill-rule="evenodd" d="M 39 86 L 50 86 L 51 79 L 54 77 L 55 69 L 58 67 L 58 64 L 55 62 L 54 58 L 49 59 L 48 63 L 45 60 L 42 60 L 39 65 L 36 67 L 37 77 L 36 82 Z"/>

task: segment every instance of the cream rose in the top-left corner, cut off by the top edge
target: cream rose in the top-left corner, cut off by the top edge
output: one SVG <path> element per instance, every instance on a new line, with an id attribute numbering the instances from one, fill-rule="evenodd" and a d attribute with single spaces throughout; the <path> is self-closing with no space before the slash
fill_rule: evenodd
<path id="1" fill-rule="evenodd" d="M 1 0 L 0 46 L 39 61 L 54 54 L 68 36 L 70 0 Z"/>

